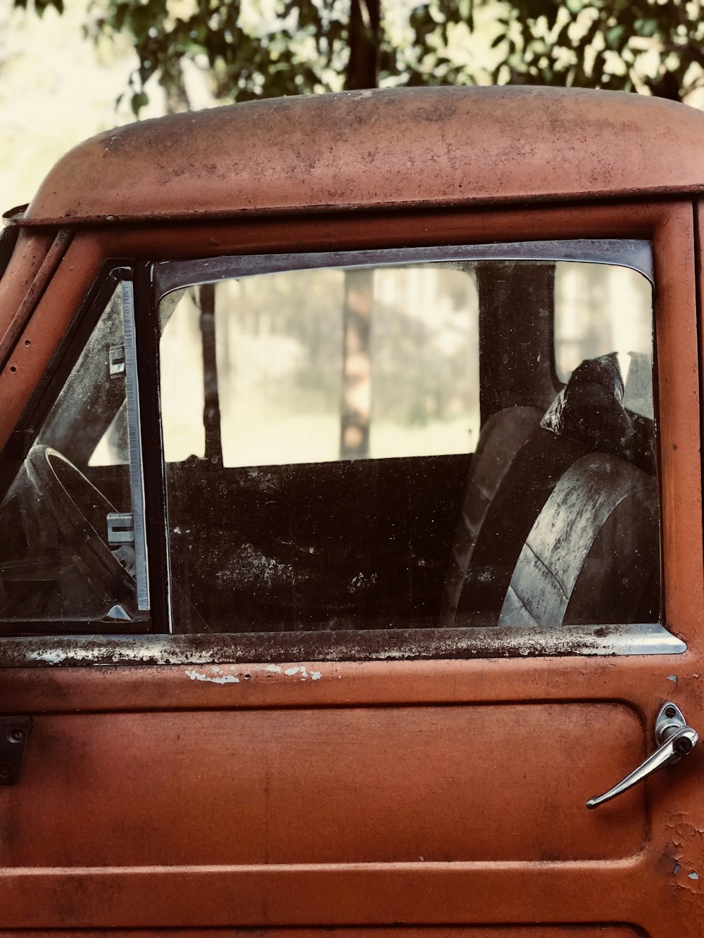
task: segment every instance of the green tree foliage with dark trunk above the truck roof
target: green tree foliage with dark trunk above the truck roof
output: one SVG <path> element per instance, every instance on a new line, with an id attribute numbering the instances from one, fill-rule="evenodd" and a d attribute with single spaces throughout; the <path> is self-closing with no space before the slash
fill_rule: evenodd
<path id="1" fill-rule="evenodd" d="M 387 3 L 389 0 L 387 0 Z M 474 83 L 451 33 L 496 10 L 488 75 L 683 98 L 704 83 L 704 0 L 419 0 L 406 39 L 391 36 L 383 0 L 94 0 L 86 31 L 127 34 L 138 114 L 156 78 L 170 109 L 187 106 L 181 63 L 207 68 L 217 98 L 337 91 L 381 84 Z M 14 0 L 62 12 L 64 0 Z M 454 50 L 456 53 L 456 49 Z M 483 80 L 482 77 L 482 80 Z"/>

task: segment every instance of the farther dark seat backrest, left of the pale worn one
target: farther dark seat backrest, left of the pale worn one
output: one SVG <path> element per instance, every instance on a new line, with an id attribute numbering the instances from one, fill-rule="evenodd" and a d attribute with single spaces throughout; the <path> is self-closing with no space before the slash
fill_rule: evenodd
<path id="1" fill-rule="evenodd" d="M 489 506 L 516 454 L 537 430 L 543 411 L 507 407 L 489 417 L 480 432 L 465 486 L 454 544 L 442 592 L 440 624 L 451 626 L 467 577 L 467 567 Z"/>

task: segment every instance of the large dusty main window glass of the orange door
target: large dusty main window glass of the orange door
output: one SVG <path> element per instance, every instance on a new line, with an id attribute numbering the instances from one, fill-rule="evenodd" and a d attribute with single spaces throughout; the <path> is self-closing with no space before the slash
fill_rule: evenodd
<path id="1" fill-rule="evenodd" d="M 608 302 L 615 265 L 536 261 L 166 296 L 175 630 L 657 622 L 650 284 L 626 273 Z"/>

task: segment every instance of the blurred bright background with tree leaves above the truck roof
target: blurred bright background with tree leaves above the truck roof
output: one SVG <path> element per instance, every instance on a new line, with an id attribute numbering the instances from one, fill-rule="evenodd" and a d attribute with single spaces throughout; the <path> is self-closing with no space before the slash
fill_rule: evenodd
<path id="1" fill-rule="evenodd" d="M 161 113 L 393 84 L 622 89 L 704 105 L 685 0 L 0 0 L 0 207 Z"/>

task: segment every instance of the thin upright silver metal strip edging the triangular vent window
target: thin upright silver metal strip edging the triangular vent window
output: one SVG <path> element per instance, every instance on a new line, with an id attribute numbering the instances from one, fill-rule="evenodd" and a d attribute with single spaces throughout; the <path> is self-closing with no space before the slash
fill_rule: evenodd
<path id="1" fill-rule="evenodd" d="M 146 566 L 145 480 L 142 459 L 142 434 L 137 377 L 137 346 L 134 328 L 134 287 L 122 281 L 122 317 L 125 328 L 125 386 L 127 389 L 127 426 L 130 440 L 130 489 L 134 526 L 134 562 L 137 580 L 137 609 L 149 609 L 149 570 Z"/>

